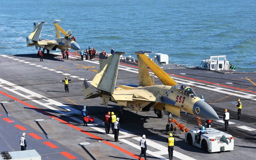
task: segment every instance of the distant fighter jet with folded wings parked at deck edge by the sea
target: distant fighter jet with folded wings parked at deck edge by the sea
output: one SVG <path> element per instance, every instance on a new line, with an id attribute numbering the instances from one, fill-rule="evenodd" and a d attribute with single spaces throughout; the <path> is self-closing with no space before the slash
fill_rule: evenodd
<path id="1" fill-rule="evenodd" d="M 60 50 L 67 50 L 68 48 L 80 50 L 80 46 L 71 38 L 72 32 L 70 30 L 68 30 L 68 32 L 63 30 L 57 24 L 58 22 L 53 22 L 55 26 L 56 38 L 54 40 L 41 40 L 40 35 L 44 23 L 45 22 L 41 22 L 37 26 L 36 23 L 34 23 L 34 31 L 26 38 L 27 47 L 35 46 L 36 49 L 40 47 L 45 48 L 46 50 L 56 50 L 56 48 L 59 48 Z M 64 35 L 64 37 L 60 37 L 60 32 Z"/>

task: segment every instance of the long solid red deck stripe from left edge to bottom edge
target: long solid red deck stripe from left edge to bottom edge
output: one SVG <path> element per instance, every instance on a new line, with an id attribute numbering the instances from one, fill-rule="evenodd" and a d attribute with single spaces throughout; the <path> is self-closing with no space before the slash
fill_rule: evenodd
<path id="1" fill-rule="evenodd" d="M 86 135 L 88 135 L 88 136 L 91 136 L 92 138 L 95 138 L 95 139 L 98 139 L 98 140 L 103 140 L 102 138 L 100 138 L 100 137 L 98 137 L 98 136 L 95 136 L 94 134 L 91 134 L 91 133 L 89 133 L 89 132 L 86 132 L 85 130 L 82 130 L 81 128 L 79 128 L 79 127 L 77 127 L 77 126 L 74 126 L 74 125 L 72 125 L 72 124 L 70 124 L 70 123 L 68 123 L 68 122 L 66 122 L 66 121 L 64 121 L 64 120 L 61 120 L 60 118 L 57 118 L 56 116 L 54 116 L 54 115 L 52 115 L 52 114 L 50 114 L 50 113 L 47 113 L 47 112 L 45 112 L 45 111 L 42 111 L 42 110 L 40 110 L 39 108 L 36 108 L 36 107 L 34 107 L 34 106 L 32 106 L 32 105 L 26 103 L 26 102 L 19 101 L 19 99 L 15 98 L 15 97 L 13 97 L 13 96 L 10 96 L 9 94 L 6 94 L 6 93 L 4 93 L 4 92 L 2 92 L 2 91 L 0 91 L 0 93 L 1 93 L 1 94 L 4 94 L 5 96 L 8 96 L 9 98 L 12 98 L 12 99 L 14 99 L 14 100 L 17 100 L 18 102 L 20 102 L 20 103 L 22 103 L 22 104 L 24 104 L 24 105 L 26 105 L 26 106 L 28 106 L 28 107 L 30 107 L 30 108 L 34 108 L 36 111 L 41 112 L 41 113 L 44 114 L 44 115 L 50 116 L 51 118 L 56 118 L 55 120 L 58 120 L 59 122 L 62 122 L 63 124 L 66 124 L 67 126 L 70 126 L 70 127 L 74 128 L 75 130 L 78 130 L 78 131 L 80 131 L 80 132 L 82 132 L 82 133 L 84 133 L 84 134 L 86 134 Z M 124 152 L 124 153 L 126 153 L 126 154 L 128 154 L 128 155 L 130 155 L 130 156 L 132 156 L 132 157 L 134 157 L 134 158 L 136 158 L 136 159 L 139 158 L 139 156 L 136 156 L 135 154 L 132 154 L 131 152 L 129 152 L 129 151 L 123 149 L 123 148 L 120 148 L 119 146 L 116 146 L 115 144 L 112 144 L 112 143 L 107 142 L 107 141 L 104 141 L 104 143 L 105 143 L 105 144 L 108 144 L 109 146 L 112 146 L 113 148 L 116 148 L 117 150 L 120 150 L 121 152 Z M 143 160 L 143 158 L 142 158 L 141 160 Z"/>

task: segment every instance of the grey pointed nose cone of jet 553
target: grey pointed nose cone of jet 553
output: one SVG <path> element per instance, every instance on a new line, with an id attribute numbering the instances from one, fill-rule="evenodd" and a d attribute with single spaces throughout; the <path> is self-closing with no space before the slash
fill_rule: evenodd
<path id="1" fill-rule="evenodd" d="M 193 106 L 195 116 L 206 120 L 218 120 L 219 116 L 215 110 L 206 102 L 198 100 Z"/>

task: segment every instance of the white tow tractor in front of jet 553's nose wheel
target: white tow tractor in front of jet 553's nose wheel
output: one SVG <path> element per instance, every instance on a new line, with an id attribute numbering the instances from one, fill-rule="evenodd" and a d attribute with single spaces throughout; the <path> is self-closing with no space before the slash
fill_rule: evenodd
<path id="1" fill-rule="evenodd" d="M 185 142 L 197 146 L 208 152 L 224 152 L 234 150 L 234 138 L 232 135 L 216 130 L 205 128 L 204 134 L 200 130 L 190 130 L 185 134 Z"/>

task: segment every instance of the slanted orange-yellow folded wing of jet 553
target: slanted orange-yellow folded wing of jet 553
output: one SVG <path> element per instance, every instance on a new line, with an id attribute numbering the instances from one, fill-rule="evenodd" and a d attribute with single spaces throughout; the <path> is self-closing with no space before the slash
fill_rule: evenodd
<path id="1" fill-rule="evenodd" d="M 137 54 L 143 60 L 143 62 L 145 62 L 146 65 L 148 65 L 148 67 L 154 72 L 154 74 L 156 74 L 156 76 L 160 79 L 160 81 L 164 85 L 174 86 L 178 84 L 166 72 L 164 72 L 158 65 L 156 65 L 152 60 L 150 60 L 150 58 L 148 58 L 148 56 L 146 56 L 145 53 L 152 53 L 152 52 L 148 52 L 148 51 L 135 52 L 135 54 Z"/>

